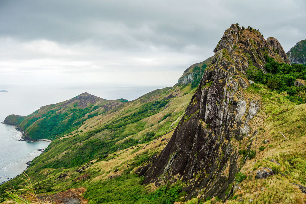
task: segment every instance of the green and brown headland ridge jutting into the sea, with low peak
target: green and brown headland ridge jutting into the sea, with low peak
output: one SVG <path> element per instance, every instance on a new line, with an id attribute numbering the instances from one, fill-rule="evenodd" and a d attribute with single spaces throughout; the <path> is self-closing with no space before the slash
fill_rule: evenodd
<path id="1" fill-rule="evenodd" d="M 9 115 L 4 123 L 18 125 L 24 139 L 56 139 L 79 128 L 94 115 L 121 104 L 121 100 L 106 100 L 88 93 L 57 104 L 43 106 L 28 116 Z"/>

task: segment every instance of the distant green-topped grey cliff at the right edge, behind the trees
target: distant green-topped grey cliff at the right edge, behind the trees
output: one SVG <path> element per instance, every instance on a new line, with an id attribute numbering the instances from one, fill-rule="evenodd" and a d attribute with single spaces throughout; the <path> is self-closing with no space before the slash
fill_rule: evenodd
<path id="1" fill-rule="evenodd" d="M 290 63 L 306 64 L 306 40 L 301 40 L 295 46 L 293 46 L 287 56 Z"/>

